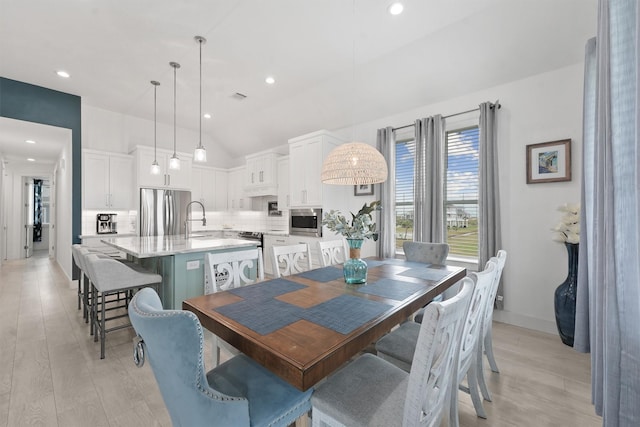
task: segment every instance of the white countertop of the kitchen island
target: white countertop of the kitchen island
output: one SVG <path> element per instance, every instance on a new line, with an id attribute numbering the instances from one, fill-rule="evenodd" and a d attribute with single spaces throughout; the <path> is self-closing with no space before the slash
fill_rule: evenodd
<path id="1" fill-rule="evenodd" d="M 255 241 L 184 236 L 104 237 L 101 241 L 136 258 L 256 246 Z"/>

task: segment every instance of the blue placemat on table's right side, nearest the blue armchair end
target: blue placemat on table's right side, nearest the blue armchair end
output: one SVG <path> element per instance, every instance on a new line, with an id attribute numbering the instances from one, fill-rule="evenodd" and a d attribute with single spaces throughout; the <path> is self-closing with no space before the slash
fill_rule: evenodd
<path id="1" fill-rule="evenodd" d="M 340 334 L 348 334 L 392 308 L 353 295 L 341 295 L 304 310 L 302 318 Z"/>

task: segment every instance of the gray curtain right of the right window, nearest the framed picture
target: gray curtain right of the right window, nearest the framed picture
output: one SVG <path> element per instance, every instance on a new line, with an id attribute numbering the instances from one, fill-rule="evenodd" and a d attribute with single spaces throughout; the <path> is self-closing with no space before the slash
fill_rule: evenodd
<path id="1" fill-rule="evenodd" d="M 502 249 L 500 229 L 500 182 L 498 177 L 498 103 L 480 104 L 480 141 L 478 147 L 478 271 L 484 270 L 487 261 Z M 498 296 L 503 295 L 502 284 Z M 497 301 L 501 301 L 499 298 Z M 501 304 L 498 304 L 501 308 Z"/>

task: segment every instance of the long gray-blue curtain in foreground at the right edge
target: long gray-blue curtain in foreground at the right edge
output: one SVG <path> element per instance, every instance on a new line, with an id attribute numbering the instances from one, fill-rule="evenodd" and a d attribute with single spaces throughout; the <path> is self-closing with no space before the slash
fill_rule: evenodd
<path id="1" fill-rule="evenodd" d="M 638 24 L 635 0 L 600 0 L 593 116 L 585 94 L 575 348 L 591 350 L 596 412 L 615 427 L 640 425 Z"/>

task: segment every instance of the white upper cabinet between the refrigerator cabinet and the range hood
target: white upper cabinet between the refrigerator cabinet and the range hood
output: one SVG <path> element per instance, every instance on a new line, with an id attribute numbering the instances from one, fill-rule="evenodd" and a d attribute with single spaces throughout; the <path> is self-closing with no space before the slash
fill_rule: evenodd
<path id="1" fill-rule="evenodd" d="M 226 171 L 194 166 L 191 170 L 191 200 L 197 200 L 206 210 L 227 208 Z"/>

